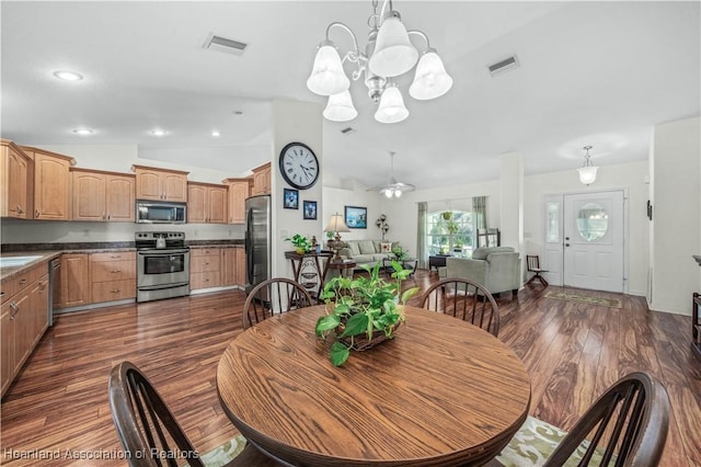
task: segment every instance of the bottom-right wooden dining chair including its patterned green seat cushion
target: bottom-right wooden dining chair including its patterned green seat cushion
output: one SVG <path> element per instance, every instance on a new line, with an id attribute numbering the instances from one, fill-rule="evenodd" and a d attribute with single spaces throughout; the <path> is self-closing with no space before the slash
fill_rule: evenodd
<path id="1" fill-rule="evenodd" d="M 526 425 L 528 421 L 490 467 L 526 467 L 533 456 L 544 458 L 539 464 L 547 467 L 654 467 L 667 440 L 669 397 L 654 376 L 634 372 L 611 385 L 559 442 L 543 433 L 560 430 L 535 431 Z"/>

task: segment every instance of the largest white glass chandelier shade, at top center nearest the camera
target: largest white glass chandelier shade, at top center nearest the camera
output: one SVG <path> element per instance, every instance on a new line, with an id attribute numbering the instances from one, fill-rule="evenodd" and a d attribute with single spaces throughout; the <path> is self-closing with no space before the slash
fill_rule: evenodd
<path id="1" fill-rule="evenodd" d="M 382 21 L 368 66 L 375 75 L 395 77 L 411 70 L 418 60 L 418 50 L 409 41 L 406 27 L 395 11 Z"/>

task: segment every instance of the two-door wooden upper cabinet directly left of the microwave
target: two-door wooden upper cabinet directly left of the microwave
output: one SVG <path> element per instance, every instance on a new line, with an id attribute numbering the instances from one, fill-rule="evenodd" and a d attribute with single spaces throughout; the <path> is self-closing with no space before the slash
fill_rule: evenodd
<path id="1" fill-rule="evenodd" d="M 73 220 L 133 223 L 136 175 L 71 168 Z"/>

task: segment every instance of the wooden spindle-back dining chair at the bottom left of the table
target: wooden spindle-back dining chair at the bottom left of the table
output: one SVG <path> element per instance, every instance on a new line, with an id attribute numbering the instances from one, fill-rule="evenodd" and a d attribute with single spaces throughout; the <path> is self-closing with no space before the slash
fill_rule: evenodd
<path id="1" fill-rule="evenodd" d="M 122 362 L 110 373 L 110 409 L 125 457 L 131 467 L 177 466 L 187 460 L 191 467 L 205 467 L 203 458 L 149 378 L 130 362 Z M 228 459 L 228 467 L 285 466 L 248 443 L 242 452 Z"/>

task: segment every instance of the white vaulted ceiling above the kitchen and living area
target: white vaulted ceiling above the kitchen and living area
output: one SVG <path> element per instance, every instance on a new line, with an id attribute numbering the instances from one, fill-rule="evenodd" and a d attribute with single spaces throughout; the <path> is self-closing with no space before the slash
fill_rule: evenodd
<path id="1" fill-rule="evenodd" d="M 699 115 L 699 1 L 393 3 L 453 87 L 420 102 L 411 77 L 400 79 L 411 115 L 386 125 L 352 83 L 357 118 L 323 124 L 325 170 L 337 178 L 384 184 L 389 151 L 395 179 L 417 189 L 497 179 L 507 152 L 522 155 L 526 174 L 574 170 L 585 145 L 598 166 L 644 160 L 655 124 Z M 369 0 L 2 1 L 2 137 L 138 145 L 146 159 L 242 174 L 271 158 L 272 100 L 325 103 L 306 80 L 326 25 L 346 23 L 364 47 L 371 11 Z M 210 33 L 249 47 L 205 49 Z M 341 31 L 332 39 L 352 45 Z M 520 67 L 490 76 L 510 55 Z M 59 69 L 84 79 L 59 81 Z"/>

